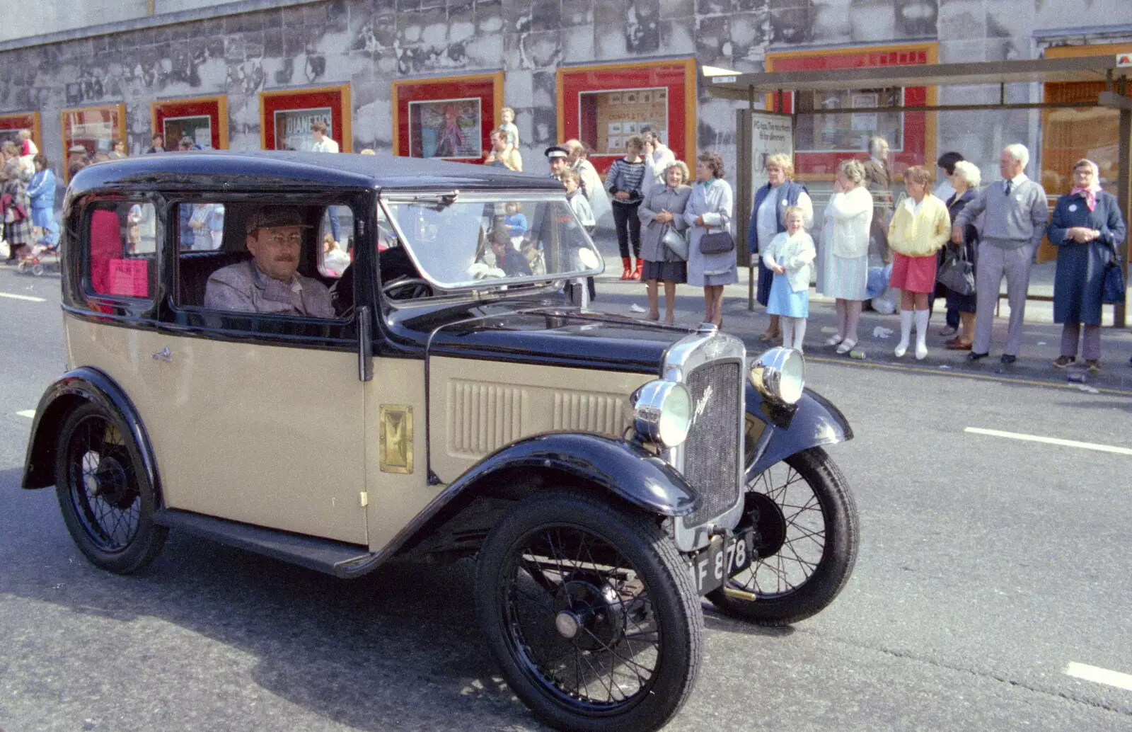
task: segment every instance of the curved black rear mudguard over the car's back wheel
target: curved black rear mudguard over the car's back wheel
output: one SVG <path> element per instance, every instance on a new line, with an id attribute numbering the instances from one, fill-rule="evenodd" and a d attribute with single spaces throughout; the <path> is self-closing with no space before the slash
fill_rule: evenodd
<path id="1" fill-rule="evenodd" d="M 32 422 L 32 436 L 27 441 L 22 486 L 44 488 L 54 485 L 55 442 L 59 429 L 67 415 L 85 401 L 95 402 L 108 415 L 121 420 L 119 428 L 134 437 L 131 449 L 137 451 L 135 458 L 144 466 L 149 485 L 156 488 L 157 463 L 134 402 L 114 380 L 89 366 L 67 372 L 48 386 L 40 398 L 40 405 L 35 408 L 35 419 Z"/>

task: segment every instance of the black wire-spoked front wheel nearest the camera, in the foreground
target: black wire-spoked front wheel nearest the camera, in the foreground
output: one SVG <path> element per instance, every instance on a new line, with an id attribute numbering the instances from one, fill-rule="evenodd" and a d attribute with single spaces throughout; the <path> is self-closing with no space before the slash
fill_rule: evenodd
<path id="1" fill-rule="evenodd" d="M 695 686 L 703 612 L 650 517 L 585 493 L 517 503 L 480 551 L 475 604 L 512 690 L 550 726 L 646 732 Z"/>

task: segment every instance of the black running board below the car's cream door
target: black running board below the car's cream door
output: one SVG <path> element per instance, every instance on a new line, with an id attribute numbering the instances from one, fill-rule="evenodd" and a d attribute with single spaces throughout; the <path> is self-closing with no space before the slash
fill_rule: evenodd
<path id="1" fill-rule="evenodd" d="M 153 522 L 342 579 L 360 577 L 380 563 L 372 561 L 375 555 L 358 544 L 268 529 L 191 511 L 158 509 L 153 514 Z"/>

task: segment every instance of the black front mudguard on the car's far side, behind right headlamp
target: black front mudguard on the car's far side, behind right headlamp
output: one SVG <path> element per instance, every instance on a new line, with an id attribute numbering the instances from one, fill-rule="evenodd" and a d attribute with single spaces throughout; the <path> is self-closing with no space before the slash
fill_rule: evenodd
<path id="1" fill-rule="evenodd" d="M 852 440 L 852 427 L 833 402 L 806 389 L 794 406 L 777 405 L 747 384 L 746 407 L 748 417 L 762 423 L 763 429 L 752 445 L 748 457 L 747 480 L 796 452 Z"/>

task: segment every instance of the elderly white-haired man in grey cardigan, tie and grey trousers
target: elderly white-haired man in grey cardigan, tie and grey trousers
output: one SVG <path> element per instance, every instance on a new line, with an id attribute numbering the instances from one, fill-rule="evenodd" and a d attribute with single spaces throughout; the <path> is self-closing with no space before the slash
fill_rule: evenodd
<path id="1" fill-rule="evenodd" d="M 1029 161 L 1030 151 L 1024 145 L 1007 145 L 998 156 L 998 171 L 1003 179 L 984 188 L 953 222 L 951 239 L 962 245 L 964 227 L 986 211 L 975 281 L 975 339 L 971 352 L 967 355 L 971 361 L 986 357 L 990 350 L 994 308 L 998 303 L 998 286 L 1003 275 L 1006 276 L 1010 301 L 1010 326 L 1002 363 L 1013 364 L 1022 348 L 1022 316 L 1030 287 L 1030 265 L 1049 220 L 1046 191 L 1023 172 Z"/>

